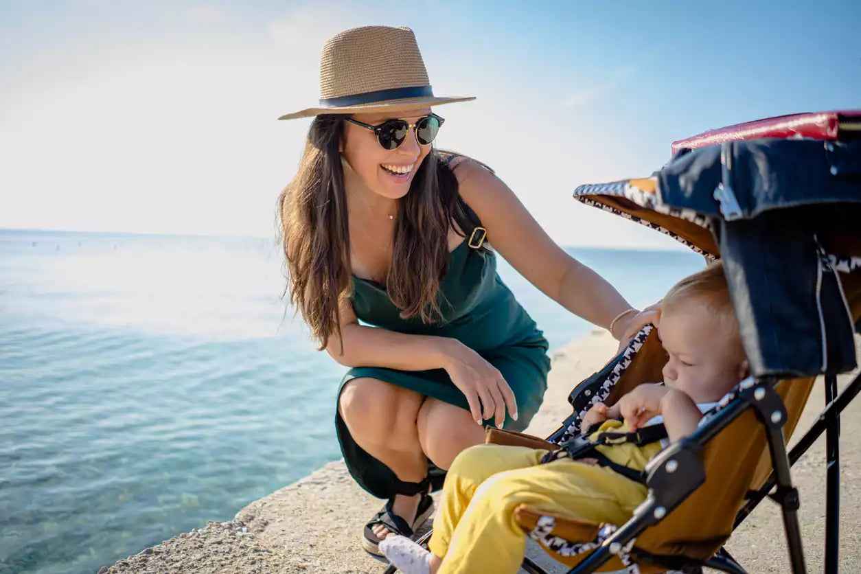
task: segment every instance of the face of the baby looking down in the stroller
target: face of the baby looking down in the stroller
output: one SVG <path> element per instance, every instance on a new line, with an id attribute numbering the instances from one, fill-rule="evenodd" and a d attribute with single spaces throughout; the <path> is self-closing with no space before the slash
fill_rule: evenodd
<path id="1" fill-rule="evenodd" d="M 686 302 L 661 313 L 658 334 L 670 355 L 665 384 L 697 403 L 719 400 L 746 377 L 747 362 L 733 341 L 734 325 L 705 306 Z"/>

